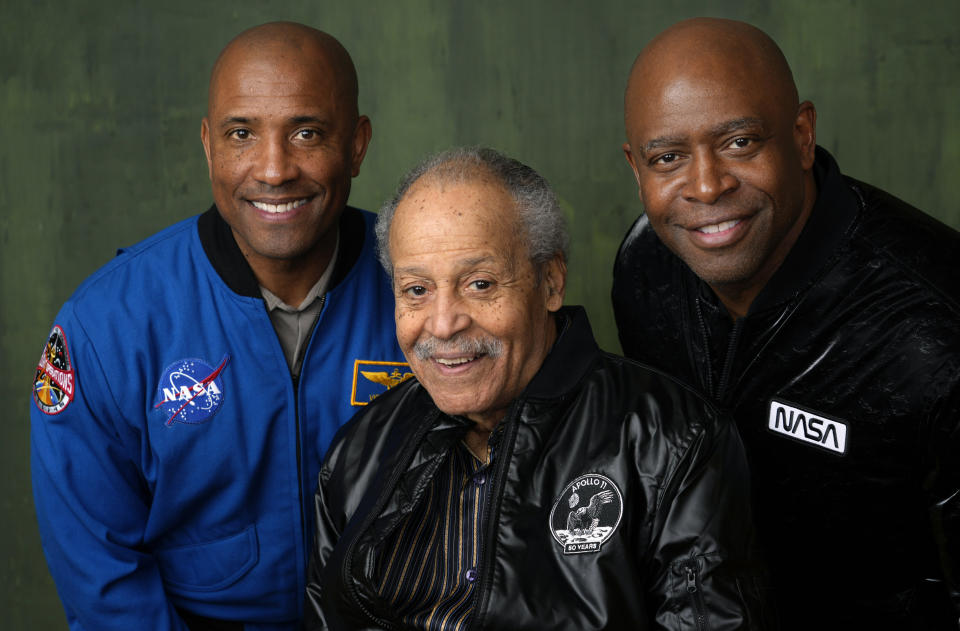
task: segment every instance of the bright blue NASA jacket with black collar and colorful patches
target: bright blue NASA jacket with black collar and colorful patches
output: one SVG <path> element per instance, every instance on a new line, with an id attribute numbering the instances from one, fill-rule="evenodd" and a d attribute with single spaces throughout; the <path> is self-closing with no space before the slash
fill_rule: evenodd
<path id="1" fill-rule="evenodd" d="M 408 370 L 373 219 L 343 213 L 298 383 L 216 208 L 121 250 L 63 306 L 31 456 L 71 629 L 297 628 L 323 455 Z"/>

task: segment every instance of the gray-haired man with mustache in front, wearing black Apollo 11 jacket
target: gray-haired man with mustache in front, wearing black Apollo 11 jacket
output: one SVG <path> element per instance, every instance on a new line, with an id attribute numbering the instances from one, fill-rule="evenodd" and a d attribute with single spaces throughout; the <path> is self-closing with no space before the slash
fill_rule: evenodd
<path id="1" fill-rule="evenodd" d="M 307 627 L 759 628 L 736 432 L 561 307 L 543 178 L 440 154 L 377 235 L 417 378 L 327 456 Z"/>

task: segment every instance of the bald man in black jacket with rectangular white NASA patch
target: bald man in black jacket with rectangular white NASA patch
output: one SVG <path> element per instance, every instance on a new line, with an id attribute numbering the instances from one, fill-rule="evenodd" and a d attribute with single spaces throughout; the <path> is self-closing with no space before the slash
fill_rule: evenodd
<path id="1" fill-rule="evenodd" d="M 752 26 L 643 50 L 620 339 L 732 411 L 788 628 L 956 629 L 960 236 L 844 177 L 815 124 Z"/>

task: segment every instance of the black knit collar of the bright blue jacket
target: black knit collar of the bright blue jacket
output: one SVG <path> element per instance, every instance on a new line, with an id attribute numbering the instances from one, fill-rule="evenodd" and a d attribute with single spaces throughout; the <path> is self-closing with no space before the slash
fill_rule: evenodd
<path id="1" fill-rule="evenodd" d="M 200 215 L 197 232 L 207 259 L 223 282 L 241 296 L 262 298 L 257 277 L 240 251 L 230 225 L 223 220 L 216 205 Z M 340 214 L 340 248 L 327 291 L 336 287 L 357 262 L 363 249 L 365 233 L 360 211 L 347 206 Z"/>

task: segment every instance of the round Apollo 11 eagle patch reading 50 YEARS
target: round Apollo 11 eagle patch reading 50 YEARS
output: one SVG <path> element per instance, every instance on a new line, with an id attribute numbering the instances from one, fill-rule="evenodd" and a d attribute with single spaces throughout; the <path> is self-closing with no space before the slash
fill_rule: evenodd
<path id="1" fill-rule="evenodd" d="M 564 554 L 599 552 L 623 517 L 623 495 L 604 475 L 582 475 L 563 489 L 550 511 L 550 532 Z"/>

